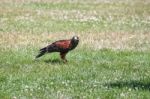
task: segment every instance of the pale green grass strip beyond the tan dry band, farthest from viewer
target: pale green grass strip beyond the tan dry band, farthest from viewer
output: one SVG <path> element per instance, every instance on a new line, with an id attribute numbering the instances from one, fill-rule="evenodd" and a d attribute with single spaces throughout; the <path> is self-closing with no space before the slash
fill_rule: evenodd
<path id="1" fill-rule="evenodd" d="M 149 32 L 149 3 L 1 4 L 1 31 Z M 8 11 L 9 10 L 9 11 Z M 15 12 L 14 12 L 15 10 Z M 42 29 L 41 29 L 42 28 Z M 141 31 L 142 29 L 142 31 Z"/>

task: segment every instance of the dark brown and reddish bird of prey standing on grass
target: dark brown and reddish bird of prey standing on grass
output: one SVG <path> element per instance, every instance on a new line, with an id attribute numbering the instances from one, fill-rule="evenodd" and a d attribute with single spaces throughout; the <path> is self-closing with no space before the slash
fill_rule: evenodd
<path id="1" fill-rule="evenodd" d="M 78 36 L 73 36 L 69 40 L 59 40 L 53 42 L 52 44 L 40 49 L 39 54 L 36 56 L 36 58 L 43 56 L 45 53 L 59 52 L 61 59 L 64 62 L 67 62 L 67 59 L 65 58 L 66 54 L 69 51 L 75 49 L 78 43 L 79 43 Z"/>

